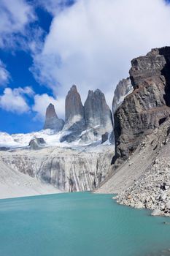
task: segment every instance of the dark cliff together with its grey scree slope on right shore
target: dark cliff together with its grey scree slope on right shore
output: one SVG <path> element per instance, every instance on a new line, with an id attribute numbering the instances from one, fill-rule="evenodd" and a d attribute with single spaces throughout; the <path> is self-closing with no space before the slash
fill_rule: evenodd
<path id="1" fill-rule="evenodd" d="M 115 111 L 112 176 L 97 192 L 117 203 L 170 216 L 170 47 L 131 61 L 134 90 Z"/>

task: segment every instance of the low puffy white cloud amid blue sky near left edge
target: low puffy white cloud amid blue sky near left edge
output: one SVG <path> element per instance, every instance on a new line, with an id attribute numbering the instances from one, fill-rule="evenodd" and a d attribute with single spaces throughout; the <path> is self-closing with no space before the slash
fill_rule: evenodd
<path id="1" fill-rule="evenodd" d="M 26 113 L 30 110 L 26 97 L 31 97 L 34 91 L 30 87 L 4 89 L 4 94 L 0 96 L 0 108 L 13 113 Z"/>

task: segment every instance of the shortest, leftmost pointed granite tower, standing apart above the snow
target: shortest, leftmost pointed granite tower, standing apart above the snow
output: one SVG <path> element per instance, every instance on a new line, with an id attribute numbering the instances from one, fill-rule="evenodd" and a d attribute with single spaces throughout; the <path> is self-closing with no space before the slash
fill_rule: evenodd
<path id="1" fill-rule="evenodd" d="M 63 119 L 58 118 L 54 105 L 50 103 L 46 110 L 44 129 L 53 129 L 55 132 L 59 132 L 63 129 L 63 125 Z"/>

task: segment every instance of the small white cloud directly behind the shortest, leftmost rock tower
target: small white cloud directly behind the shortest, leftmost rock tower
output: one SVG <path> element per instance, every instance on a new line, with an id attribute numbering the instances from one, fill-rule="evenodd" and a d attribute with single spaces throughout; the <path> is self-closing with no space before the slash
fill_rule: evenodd
<path id="1" fill-rule="evenodd" d="M 44 119 L 47 106 L 52 103 L 59 118 L 64 116 L 65 99 L 54 99 L 48 94 L 36 94 L 32 110 L 37 113 L 37 118 Z"/>

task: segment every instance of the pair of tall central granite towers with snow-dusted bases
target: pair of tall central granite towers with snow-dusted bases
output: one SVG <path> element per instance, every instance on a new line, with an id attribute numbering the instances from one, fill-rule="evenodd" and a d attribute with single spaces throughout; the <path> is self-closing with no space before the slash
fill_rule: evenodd
<path id="1" fill-rule="evenodd" d="M 112 129 L 112 112 L 104 94 L 98 89 L 89 91 L 83 106 L 76 86 L 72 86 L 66 96 L 65 134 L 61 142 L 79 140 L 80 143 L 93 143 L 106 133 L 109 136 Z"/>

